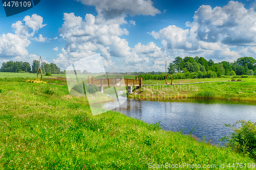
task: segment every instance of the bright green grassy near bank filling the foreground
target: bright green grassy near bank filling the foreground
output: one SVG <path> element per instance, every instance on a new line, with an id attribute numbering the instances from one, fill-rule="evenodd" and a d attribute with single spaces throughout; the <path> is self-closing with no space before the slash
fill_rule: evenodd
<path id="1" fill-rule="evenodd" d="M 87 98 L 71 96 L 67 85 L 25 83 L 1 74 L 2 169 L 147 169 L 149 163 L 166 162 L 216 164 L 218 169 L 220 163 L 255 163 L 231 148 L 119 112 L 92 116 Z"/>

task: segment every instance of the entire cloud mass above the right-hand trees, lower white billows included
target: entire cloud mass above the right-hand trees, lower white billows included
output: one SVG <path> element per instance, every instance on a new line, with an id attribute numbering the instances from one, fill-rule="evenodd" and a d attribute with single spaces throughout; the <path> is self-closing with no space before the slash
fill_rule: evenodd
<path id="1" fill-rule="evenodd" d="M 188 29 L 168 26 L 152 31 L 160 39 L 169 55 L 203 56 L 215 61 L 234 61 L 239 57 L 253 56 L 256 44 L 256 12 L 239 2 L 230 1 L 224 7 L 202 5 L 194 21 L 186 22 Z M 246 47 L 248 45 L 248 47 Z M 231 50 L 233 49 L 233 50 Z M 236 49 L 236 50 L 234 50 Z"/>

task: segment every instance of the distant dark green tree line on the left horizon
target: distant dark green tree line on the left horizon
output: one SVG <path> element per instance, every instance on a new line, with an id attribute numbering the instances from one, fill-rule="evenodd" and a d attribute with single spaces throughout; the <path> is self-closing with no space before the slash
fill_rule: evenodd
<path id="1" fill-rule="evenodd" d="M 3 62 L 2 67 L 0 68 L 1 72 L 31 72 L 36 73 L 38 71 L 39 61 L 33 60 L 32 66 L 28 62 L 23 61 L 8 61 Z M 46 72 L 50 72 L 51 74 L 60 74 L 60 68 L 54 63 L 46 63 L 44 62 L 44 67 Z M 42 70 L 42 64 L 40 67 Z"/>

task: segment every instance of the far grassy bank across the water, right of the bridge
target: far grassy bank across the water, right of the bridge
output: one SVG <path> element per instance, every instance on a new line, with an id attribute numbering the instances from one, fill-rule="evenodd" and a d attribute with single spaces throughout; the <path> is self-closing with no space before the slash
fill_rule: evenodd
<path id="1" fill-rule="evenodd" d="M 211 79 L 191 79 L 191 81 L 175 80 L 174 83 L 194 83 L 210 80 Z M 228 80 L 230 79 L 219 78 L 211 80 L 218 82 L 184 84 L 174 86 L 166 86 L 163 84 L 163 81 L 151 80 L 144 83 L 157 84 L 157 86 L 144 86 L 134 91 L 131 95 L 129 95 L 129 98 L 139 100 L 185 100 L 187 98 L 198 98 L 256 102 L 255 78 L 243 78 L 242 82 L 230 82 Z"/>

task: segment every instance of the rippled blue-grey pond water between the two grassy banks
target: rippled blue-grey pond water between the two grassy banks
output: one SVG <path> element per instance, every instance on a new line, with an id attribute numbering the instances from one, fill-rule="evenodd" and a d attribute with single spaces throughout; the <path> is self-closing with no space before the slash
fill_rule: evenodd
<path id="1" fill-rule="evenodd" d="M 120 99 L 122 100 L 122 99 Z M 125 100 L 125 99 L 123 99 Z M 233 131 L 224 124 L 234 124 L 237 120 L 256 122 L 256 104 L 220 100 L 169 100 L 169 101 L 122 101 L 120 107 L 112 109 L 114 103 L 104 104 L 103 108 L 119 111 L 126 116 L 141 119 L 148 124 L 160 121 L 166 131 L 184 131 L 214 144 Z"/>

